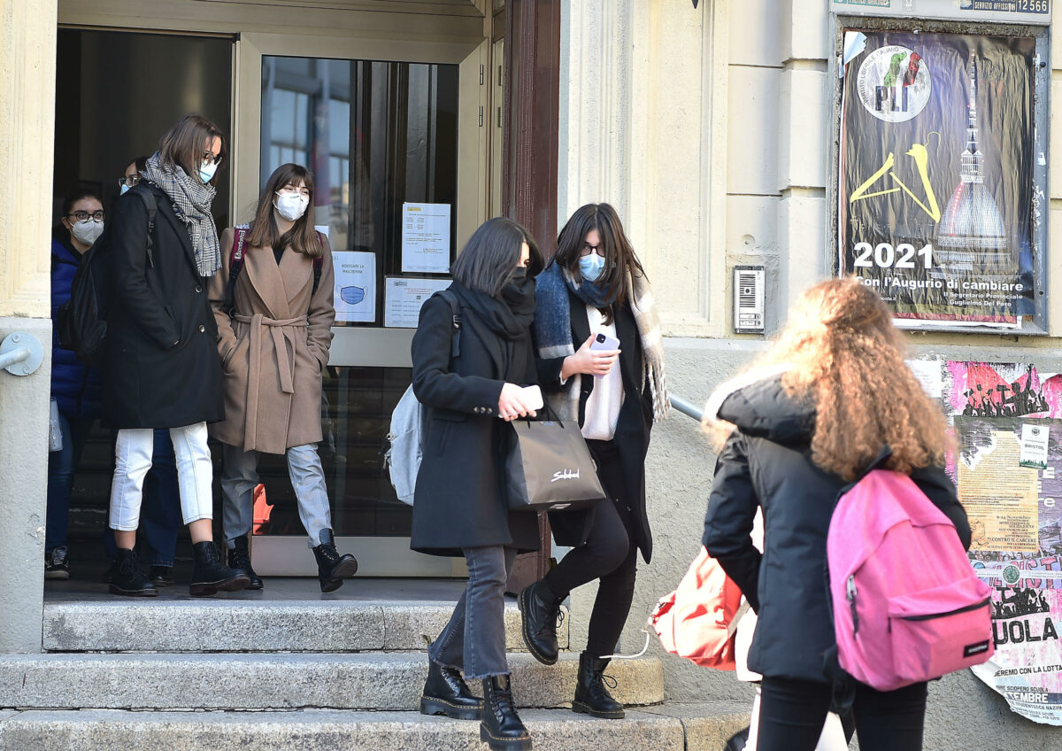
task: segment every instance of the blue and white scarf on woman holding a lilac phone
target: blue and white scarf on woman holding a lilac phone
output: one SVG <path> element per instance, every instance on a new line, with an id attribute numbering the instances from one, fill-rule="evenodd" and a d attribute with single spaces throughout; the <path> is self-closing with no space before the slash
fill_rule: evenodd
<path id="1" fill-rule="evenodd" d="M 663 420 L 667 416 L 670 402 L 667 394 L 667 379 L 664 376 L 664 341 L 660 317 L 656 313 L 656 304 L 649 288 L 649 280 L 645 276 L 633 276 L 630 283 L 628 285 L 630 297 L 627 303 L 634 313 L 638 335 L 641 337 L 641 387 L 645 388 L 646 381 L 649 381 L 649 393 L 653 397 L 653 419 Z M 554 359 L 575 355 L 568 290 L 596 308 L 607 307 L 613 301 L 605 297 L 600 287 L 582 279 L 576 280 L 555 262 L 551 262 L 538 274 L 535 284 L 538 308 L 535 311 L 534 331 L 538 357 Z M 576 374 L 567 380 L 561 392 L 547 393 L 550 407 L 561 420 L 578 419 L 580 381 L 581 376 Z"/>

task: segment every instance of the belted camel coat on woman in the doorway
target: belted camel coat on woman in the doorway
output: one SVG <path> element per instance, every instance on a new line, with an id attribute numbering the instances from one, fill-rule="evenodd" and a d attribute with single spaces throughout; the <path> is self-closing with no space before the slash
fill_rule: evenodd
<path id="1" fill-rule="evenodd" d="M 324 242 L 321 283 L 313 290 L 313 258 L 290 246 L 279 264 L 272 248 L 243 246 L 232 315 L 222 308 L 235 231 L 222 233 L 222 267 L 210 277 L 218 322 L 225 421 L 210 436 L 245 451 L 284 454 L 321 441 L 321 374 L 328 364 L 335 277 Z"/>

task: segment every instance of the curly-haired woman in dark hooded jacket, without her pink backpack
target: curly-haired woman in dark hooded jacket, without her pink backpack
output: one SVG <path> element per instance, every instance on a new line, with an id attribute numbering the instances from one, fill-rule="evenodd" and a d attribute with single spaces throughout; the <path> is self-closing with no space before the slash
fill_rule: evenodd
<path id="1" fill-rule="evenodd" d="M 810 751 L 835 696 L 853 702 L 863 751 L 922 748 L 926 684 L 877 692 L 837 663 L 826 532 L 842 488 L 870 468 L 909 475 L 970 547 L 944 473 L 940 409 L 904 361 L 885 303 L 854 279 L 808 290 L 758 368 L 720 387 L 705 422 L 721 439 L 704 546 L 758 615 L 757 751 Z M 764 552 L 750 536 L 764 514 Z M 846 703 L 846 702 L 845 702 Z"/>

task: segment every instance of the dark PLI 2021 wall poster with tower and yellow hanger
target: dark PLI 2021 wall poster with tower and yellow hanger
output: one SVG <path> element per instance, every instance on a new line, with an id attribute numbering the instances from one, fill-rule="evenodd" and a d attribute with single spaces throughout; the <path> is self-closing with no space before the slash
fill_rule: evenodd
<path id="1" fill-rule="evenodd" d="M 838 272 L 915 327 L 1018 328 L 1045 252 L 1032 36 L 845 31 Z"/>

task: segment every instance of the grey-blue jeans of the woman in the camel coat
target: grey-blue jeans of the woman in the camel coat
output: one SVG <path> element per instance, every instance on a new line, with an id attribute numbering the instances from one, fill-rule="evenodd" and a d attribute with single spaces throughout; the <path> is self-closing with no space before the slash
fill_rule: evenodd
<path id="1" fill-rule="evenodd" d="M 225 465 L 221 473 L 222 518 L 225 543 L 251 533 L 255 520 L 254 492 L 258 484 L 258 451 L 222 444 Z M 321 531 L 331 529 L 328 489 L 315 444 L 292 446 L 287 451 L 288 477 L 298 501 L 298 518 L 309 535 L 309 547 L 321 544 Z"/>

